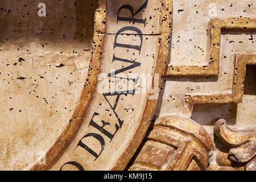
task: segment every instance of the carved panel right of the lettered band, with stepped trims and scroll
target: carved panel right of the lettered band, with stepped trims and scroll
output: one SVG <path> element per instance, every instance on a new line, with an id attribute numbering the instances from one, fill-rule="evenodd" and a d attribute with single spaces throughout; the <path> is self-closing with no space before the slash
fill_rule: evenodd
<path id="1" fill-rule="evenodd" d="M 243 13 L 240 13 L 241 10 Z M 164 77 L 163 91 L 160 92 L 162 98 L 159 98 L 155 111 L 158 118 L 152 131 L 148 131 L 148 141 L 131 162 L 131 170 L 255 170 L 255 77 L 246 78 L 246 71 L 249 71 L 247 75 L 254 75 L 255 72 L 255 66 L 247 67 L 255 65 L 254 10 L 252 1 L 174 1 L 171 59 Z M 188 18 L 184 18 L 185 15 Z M 248 82 L 253 85 L 246 86 Z M 193 109 L 196 109 L 195 113 Z M 192 118 L 208 131 L 205 131 L 205 138 L 211 136 L 209 141 L 214 145 L 214 150 L 212 148 L 212 151 L 206 152 L 209 167 L 208 162 L 200 167 L 200 160 L 189 158 L 189 154 L 185 155 L 188 158 L 183 156 L 176 160 L 172 157 L 176 154 L 173 151 L 166 156 L 162 166 L 150 166 L 155 153 L 151 154 L 150 159 L 143 158 L 148 152 L 146 147 L 149 141 L 166 142 L 164 139 L 175 135 L 176 130 L 163 137 L 166 129 L 158 126 L 159 119 L 172 123 L 172 117 Z M 228 127 L 225 120 L 220 118 L 242 129 Z M 185 126 L 182 122 L 179 125 Z M 152 138 L 155 130 L 159 134 Z M 194 133 L 199 131 L 197 129 Z M 176 143 L 176 140 L 170 140 L 164 144 L 176 146 Z M 204 147 L 199 148 L 203 150 Z M 168 168 L 168 163 L 182 165 Z"/>

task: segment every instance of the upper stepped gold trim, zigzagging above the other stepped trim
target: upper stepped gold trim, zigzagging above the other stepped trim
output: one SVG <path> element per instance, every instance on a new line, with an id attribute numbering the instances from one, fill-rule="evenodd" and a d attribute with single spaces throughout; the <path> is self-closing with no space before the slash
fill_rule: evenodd
<path id="1" fill-rule="evenodd" d="M 210 20 L 210 60 L 207 65 L 168 65 L 166 76 L 217 76 L 220 69 L 221 30 L 255 30 L 256 18 Z"/>

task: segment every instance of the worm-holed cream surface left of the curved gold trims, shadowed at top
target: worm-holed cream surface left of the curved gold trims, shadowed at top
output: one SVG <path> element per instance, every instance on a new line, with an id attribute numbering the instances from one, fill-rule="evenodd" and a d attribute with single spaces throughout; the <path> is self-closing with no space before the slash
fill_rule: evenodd
<path id="1" fill-rule="evenodd" d="M 0 169 L 29 169 L 69 123 L 84 88 L 94 1 L 0 2 Z"/>

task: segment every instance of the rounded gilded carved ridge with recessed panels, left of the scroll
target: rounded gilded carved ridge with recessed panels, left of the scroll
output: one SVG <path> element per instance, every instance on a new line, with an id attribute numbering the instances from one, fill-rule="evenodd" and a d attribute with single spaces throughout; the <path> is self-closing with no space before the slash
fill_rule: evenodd
<path id="1" fill-rule="evenodd" d="M 212 150 L 207 131 L 192 119 L 160 117 L 129 170 L 206 170 Z"/>

